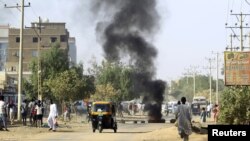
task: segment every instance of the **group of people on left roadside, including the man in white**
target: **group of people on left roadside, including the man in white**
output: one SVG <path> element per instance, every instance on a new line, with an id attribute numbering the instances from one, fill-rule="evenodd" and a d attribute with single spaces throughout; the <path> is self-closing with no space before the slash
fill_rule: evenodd
<path id="1" fill-rule="evenodd" d="M 8 115 L 10 124 L 14 124 L 15 108 L 17 108 L 17 106 L 13 102 L 6 104 L 6 102 L 4 101 L 4 96 L 0 96 L 0 130 L 5 129 L 5 131 L 8 131 Z M 31 126 L 41 127 L 43 125 L 43 115 L 45 112 L 44 109 L 44 104 L 41 100 L 31 99 L 29 102 L 26 99 L 23 100 L 20 106 L 23 126 L 27 125 L 27 118 L 29 118 Z M 50 100 L 49 115 L 47 118 L 49 131 L 56 131 L 57 117 L 57 106 L 53 102 L 53 100 Z"/>

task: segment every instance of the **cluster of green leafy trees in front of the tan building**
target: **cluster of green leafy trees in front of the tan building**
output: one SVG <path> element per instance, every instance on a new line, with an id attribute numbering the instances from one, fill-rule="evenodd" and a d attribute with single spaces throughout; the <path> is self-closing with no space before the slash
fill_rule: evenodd
<path id="1" fill-rule="evenodd" d="M 94 77 L 83 75 L 83 65 L 69 68 L 68 55 L 59 44 L 41 55 L 41 93 L 43 98 L 56 98 L 67 102 L 89 97 L 95 91 Z M 30 64 L 32 75 L 25 81 L 25 92 L 30 97 L 37 97 L 38 61 Z"/>

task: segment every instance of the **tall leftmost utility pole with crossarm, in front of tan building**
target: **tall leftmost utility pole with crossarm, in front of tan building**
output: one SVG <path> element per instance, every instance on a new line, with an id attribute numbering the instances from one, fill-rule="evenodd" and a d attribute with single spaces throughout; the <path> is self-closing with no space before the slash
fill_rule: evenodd
<path id="1" fill-rule="evenodd" d="M 21 25 L 20 25 L 20 47 L 19 47 L 19 69 L 18 69 L 18 108 L 17 108 L 17 119 L 21 120 L 21 96 L 22 96 L 22 78 L 23 78 L 23 27 L 24 27 L 24 7 L 29 7 L 29 5 L 24 5 L 24 0 L 21 0 L 21 6 L 18 4 L 16 6 L 7 6 L 5 8 L 20 8 L 21 9 Z"/>

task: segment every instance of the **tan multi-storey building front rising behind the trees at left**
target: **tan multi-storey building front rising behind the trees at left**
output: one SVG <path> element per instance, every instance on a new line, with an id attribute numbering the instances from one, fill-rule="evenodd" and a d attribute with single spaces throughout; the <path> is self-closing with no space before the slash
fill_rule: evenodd
<path id="1" fill-rule="evenodd" d="M 41 29 L 41 30 L 39 30 Z M 31 23 L 31 28 L 23 30 L 23 73 L 31 72 L 29 64 L 38 57 L 38 52 L 48 50 L 53 44 L 59 43 L 61 49 L 68 50 L 69 32 L 65 23 Z M 6 62 L 8 73 L 18 72 L 20 29 L 9 29 L 9 47 Z"/>

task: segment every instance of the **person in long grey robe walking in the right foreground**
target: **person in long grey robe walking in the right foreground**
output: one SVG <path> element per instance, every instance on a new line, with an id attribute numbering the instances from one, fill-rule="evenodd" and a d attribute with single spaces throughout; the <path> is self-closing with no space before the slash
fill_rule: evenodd
<path id="1" fill-rule="evenodd" d="M 178 132 L 183 138 L 183 141 L 189 140 L 189 135 L 192 134 L 192 125 L 191 125 L 191 108 L 186 105 L 186 97 L 181 98 L 181 105 L 177 107 L 175 115 L 178 120 Z"/>

